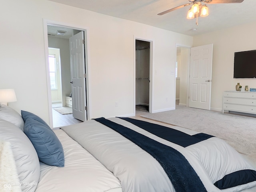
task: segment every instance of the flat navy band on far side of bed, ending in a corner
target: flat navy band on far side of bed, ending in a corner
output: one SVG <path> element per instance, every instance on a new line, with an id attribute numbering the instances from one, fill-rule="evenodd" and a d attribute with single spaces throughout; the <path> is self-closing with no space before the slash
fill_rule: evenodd
<path id="1" fill-rule="evenodd" d="M 208 138 L 213 137 L 212 135 L 208 135 L 205 133 L 198 133 L 195 135 L 189 135 L 182 131 L 172 129 L 169 127 L 161 126 L 154 123 L 149 123 L 146 121 L 141 121 L 137 119 L 132 119 L 128 117 L 118 117 L 122 120 L 126 120 L 162 139 L 168 140 L 172 143 L 180 145 L 182 147 L 187 147 L 192 144 L 198 143 L 200 141 L 206 140 Z"/>

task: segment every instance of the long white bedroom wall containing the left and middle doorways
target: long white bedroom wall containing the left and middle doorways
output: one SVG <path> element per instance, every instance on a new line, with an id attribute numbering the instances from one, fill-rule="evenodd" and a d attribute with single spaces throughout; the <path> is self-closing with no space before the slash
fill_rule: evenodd
<path id="1" fill-rule="evenodd" d="M 50 122 L 43 19 L 87 30 L 90 118 L 134 114 L 134 38 L 152 41 L 153 112 L 174 108 L 175 45 L 192 46 L 191 36 L 48 0 L 1 6 L 0 88 L 15 89 L 18 101 L 10 103 L 15 110 Z"/>

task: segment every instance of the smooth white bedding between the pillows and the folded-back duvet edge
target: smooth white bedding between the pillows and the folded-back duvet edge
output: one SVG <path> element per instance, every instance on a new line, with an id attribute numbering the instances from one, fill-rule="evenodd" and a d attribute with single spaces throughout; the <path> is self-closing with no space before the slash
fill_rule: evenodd
<path id="1" fill-rule="evenodd" d="M 36 192 L 122 192 L 119 180 L 62 130 L 54 130 L 62 143 L 65 166 L 40 162 Z"/>

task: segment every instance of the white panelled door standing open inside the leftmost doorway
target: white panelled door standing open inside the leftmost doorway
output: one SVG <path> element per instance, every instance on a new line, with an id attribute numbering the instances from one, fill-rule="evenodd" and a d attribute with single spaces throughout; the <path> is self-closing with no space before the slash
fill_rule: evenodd
<path id="1" fill-rule="evenodd" d="M 86 121 L 84 32 L 70 37 L 73 117 Z"/>

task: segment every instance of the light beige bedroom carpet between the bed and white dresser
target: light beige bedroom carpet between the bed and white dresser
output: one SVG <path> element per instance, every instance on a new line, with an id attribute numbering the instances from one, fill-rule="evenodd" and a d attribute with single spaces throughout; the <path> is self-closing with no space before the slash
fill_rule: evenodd
<path id="1" fill-rule="evenodd" d="M 256 118 L 178 105 L 176 110 L 141 116 L 216 136 L 256 162 Z"/>

